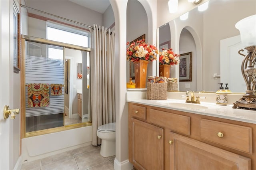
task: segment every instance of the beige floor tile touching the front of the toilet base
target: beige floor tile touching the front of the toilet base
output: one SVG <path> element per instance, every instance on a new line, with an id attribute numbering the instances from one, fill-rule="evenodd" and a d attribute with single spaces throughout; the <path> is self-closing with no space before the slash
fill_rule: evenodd
<path id="1" fill-rule="evenodd" d="M 91 152 L 86 152 L 84 154 L 75 156 L 76 163 L 79 170 L 86 170 L 92 168 L 104 162 L 109 162 L 108 158 L 100 156 L 100 150 L 93 150 Z"/>

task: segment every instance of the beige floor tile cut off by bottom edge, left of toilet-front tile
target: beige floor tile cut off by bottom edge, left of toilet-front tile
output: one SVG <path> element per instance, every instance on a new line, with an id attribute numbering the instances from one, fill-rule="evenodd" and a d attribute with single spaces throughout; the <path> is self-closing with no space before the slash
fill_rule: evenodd
<path id="1" fill-rule="evenodd" d="M 78 167 L 74 158 L 67 158 L 44 165 L 41 170 L 78 170 Z"/>

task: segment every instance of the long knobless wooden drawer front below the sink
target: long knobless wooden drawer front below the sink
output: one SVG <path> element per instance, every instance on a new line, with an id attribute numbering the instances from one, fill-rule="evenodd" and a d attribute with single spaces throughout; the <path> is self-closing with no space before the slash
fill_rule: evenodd
<path id="1" fill-rule="evenodd" d="M 188 116 L 149 109 L 147 113 L 147 122 L 190 135 L 190 117 Z"/>

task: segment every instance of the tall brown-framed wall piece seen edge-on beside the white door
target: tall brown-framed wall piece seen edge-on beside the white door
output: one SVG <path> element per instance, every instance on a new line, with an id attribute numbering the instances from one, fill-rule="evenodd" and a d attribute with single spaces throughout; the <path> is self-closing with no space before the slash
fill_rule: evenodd
<path id="1" fill-rule="evenodd" d="M 18 2 L 13 1 L 13 72 L 20 71 L 20 8 Z"/>

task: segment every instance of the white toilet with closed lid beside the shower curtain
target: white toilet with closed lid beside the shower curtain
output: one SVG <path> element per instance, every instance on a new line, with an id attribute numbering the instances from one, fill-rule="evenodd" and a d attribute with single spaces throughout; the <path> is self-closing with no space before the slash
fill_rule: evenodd
<path id="1" fill-rule="evenodd" d="M 116 154 L 116 123 L 108 123 L 98 127 L 97 136 L 102 139 L 100 155 L 103 157 Z"/>

